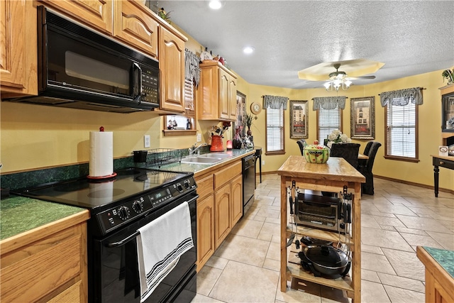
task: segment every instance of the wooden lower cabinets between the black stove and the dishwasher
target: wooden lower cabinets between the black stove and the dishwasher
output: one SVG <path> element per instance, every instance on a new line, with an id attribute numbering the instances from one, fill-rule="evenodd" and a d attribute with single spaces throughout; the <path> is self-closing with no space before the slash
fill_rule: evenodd
<path id="1" fill-rule="evenodd" d="M 226 239 L 243 216 L 241 160 L 196 175 L 197 271 Z"/>

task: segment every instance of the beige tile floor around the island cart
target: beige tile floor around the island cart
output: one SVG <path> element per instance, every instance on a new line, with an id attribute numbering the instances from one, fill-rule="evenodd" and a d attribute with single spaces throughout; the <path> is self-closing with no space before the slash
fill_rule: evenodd
<path id="1" fill-rule="evenodd" d="M 197 275 L 192 302 L 351 301 L 310 282 L 280 292 L 279 186 L 278 175 L 262 175 L 254 204 Z M 424 302 L 416 246 L 454 250 L 454 194 L 375 178 L 361 202 L 362 302 Z"/>

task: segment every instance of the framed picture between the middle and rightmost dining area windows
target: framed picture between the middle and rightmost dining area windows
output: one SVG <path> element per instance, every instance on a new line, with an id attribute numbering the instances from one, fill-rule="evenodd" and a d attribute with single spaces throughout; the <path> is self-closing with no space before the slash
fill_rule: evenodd
<path id="1" fill-rule="evenodd" d="M 375 97 L 350 99 L 350 137 L 375 139 Z"/>

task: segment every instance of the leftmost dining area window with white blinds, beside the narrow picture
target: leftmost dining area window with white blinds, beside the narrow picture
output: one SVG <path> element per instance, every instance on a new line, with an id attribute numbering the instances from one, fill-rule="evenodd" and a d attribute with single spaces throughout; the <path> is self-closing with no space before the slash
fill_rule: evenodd
<path id="1" fill-rule="evenodd" d="M 282 154 L 284 149 L 284 109 L 266 109 L 266 153 Z"/>

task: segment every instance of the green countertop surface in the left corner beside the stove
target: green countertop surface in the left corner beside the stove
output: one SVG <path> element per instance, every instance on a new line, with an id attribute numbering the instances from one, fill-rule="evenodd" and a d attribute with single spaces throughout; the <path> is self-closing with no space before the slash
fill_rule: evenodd
<path id="1" fill-rule="evenodd" d="M 11 195 L 0 201 L 0 240 L 52 223 L 84 209 Z"/>

